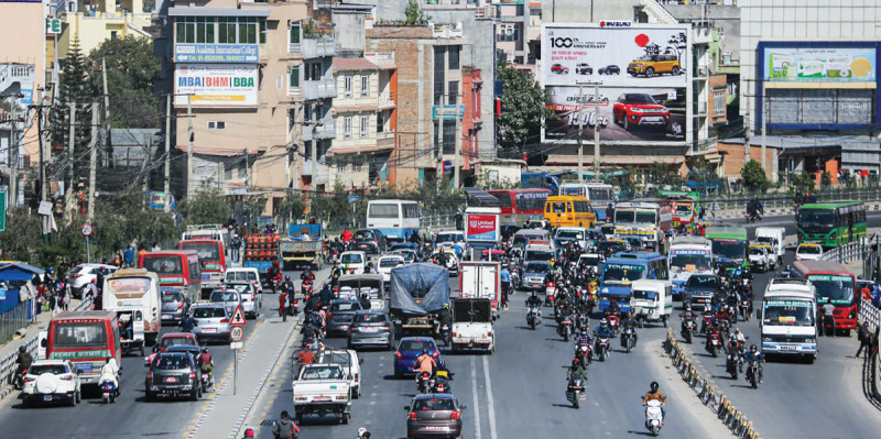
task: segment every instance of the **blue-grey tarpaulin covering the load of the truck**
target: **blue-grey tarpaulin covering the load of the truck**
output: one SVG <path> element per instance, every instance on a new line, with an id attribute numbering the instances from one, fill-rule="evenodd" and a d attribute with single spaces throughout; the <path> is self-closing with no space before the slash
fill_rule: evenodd
<path id="1" fill-rule="evenodd" d="M 418 301 L 418 303 L 417 303 Z M 449 271 L 435 264 L 392 268 L 390 308 L 409 316 L 437 312 L 449 303 Z"/>

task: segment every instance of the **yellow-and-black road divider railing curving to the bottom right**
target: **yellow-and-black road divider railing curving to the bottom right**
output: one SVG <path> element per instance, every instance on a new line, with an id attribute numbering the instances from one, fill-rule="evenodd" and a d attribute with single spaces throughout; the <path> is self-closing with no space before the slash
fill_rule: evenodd
<path id="1" fill-rule="evenodd" d="M 673 361 L 673 366 L 682 376 L 683 381 L 697 395 L 700 403 L 716 413 L 719 420 L 728 427 L 731 432 L 742 439 L 760 439 L 761 437 L 752 427 L 752 421 L 747 419 L 740 410 L 721 393 L 716 386 L 709 383 L 700 372 L 692 364 L 688 355 L 679 349 L 679 342 L 673 336 L 673 330 L 667 330 L 667 338 L 664 340 L 664 350 Z"/>

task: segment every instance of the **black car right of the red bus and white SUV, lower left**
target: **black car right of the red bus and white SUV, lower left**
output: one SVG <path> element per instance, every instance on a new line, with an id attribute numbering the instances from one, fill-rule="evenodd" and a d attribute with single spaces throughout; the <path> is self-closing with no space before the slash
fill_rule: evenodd
<path id="1" fill-rule="evenodd" d="M 156 396 L 187 395 L 191 400 L 202 397 L 202 371 L 188 352 L 163 352 L 150 363 L 144 378 L 146 400 Z"/>

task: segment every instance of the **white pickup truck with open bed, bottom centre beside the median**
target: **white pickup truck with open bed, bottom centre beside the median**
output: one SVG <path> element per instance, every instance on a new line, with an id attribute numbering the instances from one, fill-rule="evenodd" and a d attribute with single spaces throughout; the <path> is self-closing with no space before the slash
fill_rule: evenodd
<path id="1" fill-rule="evenodd" d="M 339 364 L 304 364 L 292 383 L 297 424 L 306 415 L 338 416 L 342 424 L 351 417 L 351 388 L 346 370 Z"/>

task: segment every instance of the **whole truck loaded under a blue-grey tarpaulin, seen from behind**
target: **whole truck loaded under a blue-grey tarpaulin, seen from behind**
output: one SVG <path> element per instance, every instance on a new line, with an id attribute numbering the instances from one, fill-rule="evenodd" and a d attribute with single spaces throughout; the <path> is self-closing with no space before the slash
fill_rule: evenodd
<path id="1" fill-rule="evenodd" d="M 439 312 L 449 305 L 449 273 L 431 263 L 392 268 L 389 309 L 403 336 L 439 334 Z"/>

